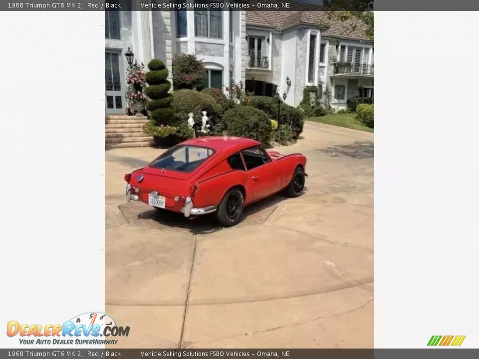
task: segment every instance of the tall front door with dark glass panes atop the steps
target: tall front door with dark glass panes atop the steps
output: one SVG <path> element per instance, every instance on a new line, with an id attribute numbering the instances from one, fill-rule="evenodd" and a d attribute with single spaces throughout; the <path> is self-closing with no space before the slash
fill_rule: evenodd
<path id="1" fill-rule="evenodd" d="M 120 51 L 105 51 L 105 112 L 125 112 L 123 61 Z"/>

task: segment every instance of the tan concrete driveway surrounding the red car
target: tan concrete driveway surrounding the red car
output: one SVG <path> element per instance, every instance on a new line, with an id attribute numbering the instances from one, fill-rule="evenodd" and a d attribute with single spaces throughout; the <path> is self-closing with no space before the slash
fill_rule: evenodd
<path id="1" fill-rule="evenodd" d="M 125 203 L 162 150 L 106 152 L 106 311 L 116 348 L 372 348 L 373 134 L 306 122 L 306 192 L 221 228 Z"/>

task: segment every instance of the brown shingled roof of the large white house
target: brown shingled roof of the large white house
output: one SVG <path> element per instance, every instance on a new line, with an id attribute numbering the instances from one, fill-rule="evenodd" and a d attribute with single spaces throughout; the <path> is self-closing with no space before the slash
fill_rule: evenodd
<path id="1" fill-rule="evenodd" d="M 246 10 L 246 25 L 271 27 L 284 30 L 297 25 L 311 25 L 318 27 L 318 23 L 328 24 L 321 34 L 340 38 L 372 41 L 366 36 L 366 25 L 360 20 L 341 22 L 329 20 L 324 7 L 299 2 L 290 2 L 291 10 Z M 301 10 L 294 10 L 300 8 Z M 319 9 L 319 10 L 318 10 Z"/>

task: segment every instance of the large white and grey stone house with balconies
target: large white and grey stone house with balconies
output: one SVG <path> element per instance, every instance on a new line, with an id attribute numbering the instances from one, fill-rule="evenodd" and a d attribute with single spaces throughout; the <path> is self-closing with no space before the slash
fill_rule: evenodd
<path id="1" fill-rule="evenodd" d="M 128 48 L 138 62 L 164 60 L 170 76 L 174 54 L 196 54 L 208 70 L 205 87 L 241 81 L 257 95 L 286 93 L 292 106 L 305 86 L 337 109 L 373 96 L 374 43 L 361 24 L 352 30 L 324 11 L 105 11 L 107 113 L 125 111 Z"/>

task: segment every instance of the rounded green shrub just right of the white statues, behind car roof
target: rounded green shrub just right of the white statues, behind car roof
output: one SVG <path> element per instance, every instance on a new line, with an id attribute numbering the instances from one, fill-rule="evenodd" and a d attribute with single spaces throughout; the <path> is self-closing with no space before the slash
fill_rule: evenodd
<path id="1" fill-rule="evenodd" d="M 223 116 L 228 135 L 246 137 L 267 144 L 271 137 L 269 116 L 252 106 L 240 105 Z"/>

